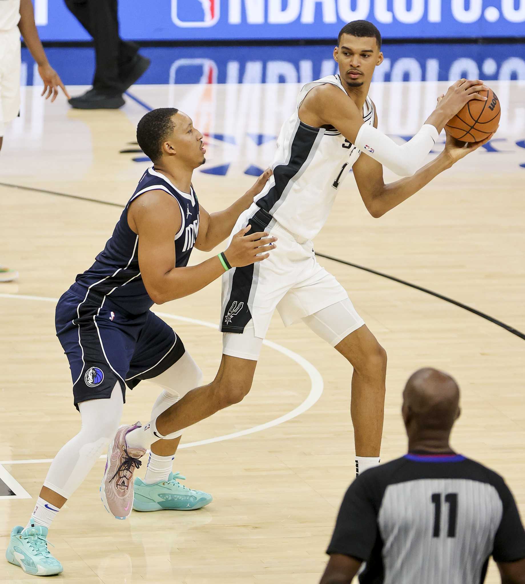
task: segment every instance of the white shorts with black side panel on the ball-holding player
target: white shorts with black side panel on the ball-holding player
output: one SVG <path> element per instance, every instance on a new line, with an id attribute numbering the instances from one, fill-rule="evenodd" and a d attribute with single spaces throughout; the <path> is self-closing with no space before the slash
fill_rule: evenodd
<path id="1" fill-rule="evenodd" d="M 285 326 L 302 319 L 334 346 L 364 325 L 343 286 L 317 263 L 312 241 L 286 230 L 255 204 L 240 215 L 232 236 L 248 224 L 248 233 L 276 236 L 277 249 L 262 262 L 223 274 L 224 354 L 257 360 L 276 308 Z"/>

